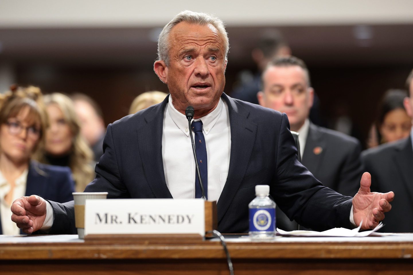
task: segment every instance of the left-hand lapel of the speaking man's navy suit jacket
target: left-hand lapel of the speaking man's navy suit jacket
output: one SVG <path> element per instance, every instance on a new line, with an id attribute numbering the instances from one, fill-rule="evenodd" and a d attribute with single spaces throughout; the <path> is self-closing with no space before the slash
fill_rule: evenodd
<path id="1" fill-rule="evenodd" d="M 145 116 L 146 124 L 137 129 L 138 147 L 146 179 L 156 198 L 172 198 L 166 186 L 162 159 L 164 110 L 169 96 Z"/>

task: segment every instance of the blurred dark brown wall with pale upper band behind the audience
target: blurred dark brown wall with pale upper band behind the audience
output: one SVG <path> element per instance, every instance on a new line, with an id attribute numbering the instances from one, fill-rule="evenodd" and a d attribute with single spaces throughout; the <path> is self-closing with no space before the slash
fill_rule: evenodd
<path id="1" fill-rule="evenodd" d="M 323 123 L 347 116 L 363 144 L 380 97 L 404 88 L 413 68 L 411 0 L 1 0 L 0 91 L 19 83 L 82 92 L 113 122 L 138 94 L 167 92 L 152 69 L 157 36 L 185 9 L 215 14 L 227 26 L 224 92 L 231 94 L 240 72 L 256 72 L 251 50 L 277 28 L 309 66 Z"/>

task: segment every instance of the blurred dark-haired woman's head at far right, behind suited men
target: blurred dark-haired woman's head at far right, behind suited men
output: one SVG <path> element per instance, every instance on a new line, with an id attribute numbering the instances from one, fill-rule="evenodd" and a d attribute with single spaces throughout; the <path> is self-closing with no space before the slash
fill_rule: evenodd
<path id="1" fill-rule="evenodd" d="M 390 89 L 380 103 L 377 121 L 370 131 L 369 148 L 404 139 L 410 134 L 412 120 L 404 108 L 404 90 Z"/>

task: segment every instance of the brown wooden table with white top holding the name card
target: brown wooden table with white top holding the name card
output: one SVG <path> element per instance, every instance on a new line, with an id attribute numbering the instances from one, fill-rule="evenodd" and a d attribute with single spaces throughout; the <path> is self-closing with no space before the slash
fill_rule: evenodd
<path id="1" fill-rule="evenodd" d="M 76 237 L 0 236 L 0 274 L 229 274 L 216 240 L 84 242 Z M 274 242 L 228 238 L 228 249 L 235 275 L 413 274 L 413 234 Z"/>

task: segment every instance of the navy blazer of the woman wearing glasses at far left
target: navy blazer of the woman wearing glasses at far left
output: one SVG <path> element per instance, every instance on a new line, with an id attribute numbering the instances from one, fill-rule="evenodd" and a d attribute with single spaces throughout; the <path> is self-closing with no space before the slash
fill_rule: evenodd
<path id="1" fill-rule="evenodd" d="M 30 162 L 26 181 L 26 196 L 38 195 L 47 200 L 69 202 L 73 200 L 74 182 L 69 167 Z M 0 219 L 0 234 L 2 226 Z"/>

